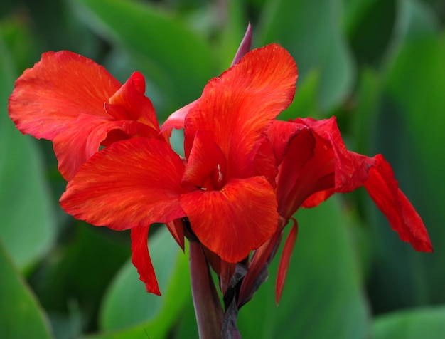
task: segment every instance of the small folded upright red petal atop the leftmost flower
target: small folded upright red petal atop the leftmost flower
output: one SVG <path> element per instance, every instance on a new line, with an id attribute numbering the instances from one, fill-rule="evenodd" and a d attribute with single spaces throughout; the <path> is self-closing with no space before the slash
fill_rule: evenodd
<path id="1" fill-rule="evenodd" d="M 139 72 L 134 72 L 127 82 L 109 98 L 111 105 L 105 105 L 105 109 L 116 120 L 142 122 L 159 131 L 159 122 L 156 119 L 153 104 L 144 92 L 144 76 Z M 118 109 L 113 109 L 113 105 L 116 105 Z"/>

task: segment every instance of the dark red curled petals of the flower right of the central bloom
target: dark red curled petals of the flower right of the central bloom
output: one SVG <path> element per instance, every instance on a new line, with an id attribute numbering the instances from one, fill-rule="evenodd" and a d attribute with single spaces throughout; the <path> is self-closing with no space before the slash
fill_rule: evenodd
<path id="1" fill-rule="evenodd" d="M 368 171 L 375 165 L 375 160 L 351 155 L 335 117 L 326 120 L 297 118 L 287 122 L 294 123 L 294 130 L 302 133 L 301 136 L 292 132 L 289 126 L 284 128 L 285 123 L 271 126 L 271 130 L 280 127 L 283 131 L 274 142 L 277 157 L 284 155 L 278 177 L 282 184 L 277 189 L 279 206 L 286 209 L 280 209 L 282 216 L 290 217 L 300 206 L 315 207 L 335 192 L 351 192 L 368 180 Z M 301 125 L 309 129 L 314 145 L 309 142 L 309 136 L 304 137 L 307 133 L 299 131 Z M 288 145 L 285 143 L 287 135 L 290 136 Z"/>

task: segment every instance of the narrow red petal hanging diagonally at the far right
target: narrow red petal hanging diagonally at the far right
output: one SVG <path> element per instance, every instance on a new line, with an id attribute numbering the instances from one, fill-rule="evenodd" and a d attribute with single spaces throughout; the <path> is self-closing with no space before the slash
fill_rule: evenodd
<path id="1" fill-rule="evenodd" d="M 416 251 L 431 252 L 433 249 L 424 223 L 399 189 L 390 164 L 382 155 L 376 155 L 374 159 L 377 165 L 371 167 L 365 189 L 401 240 L 411 243 Z"/>

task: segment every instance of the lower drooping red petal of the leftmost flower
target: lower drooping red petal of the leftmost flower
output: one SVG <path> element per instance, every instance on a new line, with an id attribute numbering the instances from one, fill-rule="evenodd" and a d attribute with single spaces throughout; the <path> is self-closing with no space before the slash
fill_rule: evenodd
<path id="1" fill-rule="evenodd" d="M 70 128 L 60 132 L 53 140 L 58 170 L 68 181 L 74 177 L 79 167 L 99 150 L 104 140 L 111 143 L 136 135 L 154 138 L 158 131 L 135 121 L 110 121 L 95 115 L 81 114 Z"/>

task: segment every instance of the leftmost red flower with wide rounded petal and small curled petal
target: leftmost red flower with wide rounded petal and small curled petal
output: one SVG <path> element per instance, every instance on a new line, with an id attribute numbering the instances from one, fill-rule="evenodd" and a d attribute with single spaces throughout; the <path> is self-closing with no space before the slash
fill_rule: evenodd
<path id="1" fill-rule="evenodd" d="M 59 171 L 69 180 L 100 145 L 158 137 L 159 123 L 144 92 L 139 72 L 121 86 L 88 58 L 48 52 L 16 80 L 9 115 L 23 134 L 53 141 Z"/>

